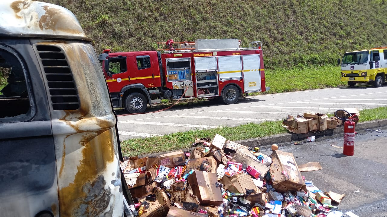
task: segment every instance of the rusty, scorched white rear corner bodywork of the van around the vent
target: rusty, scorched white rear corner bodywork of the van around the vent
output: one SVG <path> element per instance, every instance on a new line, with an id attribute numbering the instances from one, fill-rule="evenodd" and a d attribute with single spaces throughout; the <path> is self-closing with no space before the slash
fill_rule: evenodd
<path id="1" fill-rule="evenodd" d="M 55 46 L 63 51 L 80 102 L 77 110 L 50 111 L 60 216 L 122 216 L 116 117 L 94 49 L 75 41 L 33 43 L 36 50 Z M 42 63 L 40 66 L 43 70 Z M 48 85 L 46 92 L 50 92 Z"/>

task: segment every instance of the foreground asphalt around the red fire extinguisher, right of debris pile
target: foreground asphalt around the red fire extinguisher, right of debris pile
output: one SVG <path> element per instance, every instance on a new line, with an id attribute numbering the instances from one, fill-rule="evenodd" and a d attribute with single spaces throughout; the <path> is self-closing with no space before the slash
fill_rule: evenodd
<path id="1" fill-rule="evenodd" d="M 322 170 L 301 172 L 305 180 L 322 191 L 345 194 L 339 204 L 359 217 L 387 217 L 387 127 L 361 131 L 355 137 L 354 156 L 345 156 L 342 136 L 315 142 L 279 144 L 279 150 L 293 153 L 298 165 L 319 162 Z M 261 148 L 271 154 L 269 148 Z"/>

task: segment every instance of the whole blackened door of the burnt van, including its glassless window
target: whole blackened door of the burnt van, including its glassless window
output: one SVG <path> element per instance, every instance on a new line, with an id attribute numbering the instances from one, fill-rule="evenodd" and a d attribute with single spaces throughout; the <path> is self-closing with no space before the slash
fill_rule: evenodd
<path id="1" fill-rule="evenodd" d="M 58 216 L 50 112 L 29 43 L 0 42 L 0 210 L 5 216 Z"/>

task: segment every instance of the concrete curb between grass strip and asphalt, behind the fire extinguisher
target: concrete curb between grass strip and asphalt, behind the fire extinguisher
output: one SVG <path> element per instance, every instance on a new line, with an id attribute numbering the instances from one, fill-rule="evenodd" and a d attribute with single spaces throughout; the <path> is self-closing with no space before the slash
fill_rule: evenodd
<path id="1" fill-rule="evenodd" d="M 363 131 L 365 129 L 372 129 L 377 127 L 387 126 L 387 119 L 382 120 L 370 120 L 365 122 L 360 122 L 356 124 L 356 132 Z M 294 134 L 294 133 L 284 133 L 273 136 L 266 136 L 263 138 L 253 138 L 253 139 L 245 139 L 241 141 L 235 141 L 239 144 L 248 147 L 255 146 L 268 146 L 272 144 L 279 144 L 284 142 L 293 142 L 293 141 L 302 141 L 309 136 L 315 136 L 316 138 L 321 138 L 325 136 L 337 136 L 344 133 L 344 126 L 337 127 L 336 129 L 327 129 L 326 131 L 317 131 L 317 132 L 308 132 L 303 134 Z"/>

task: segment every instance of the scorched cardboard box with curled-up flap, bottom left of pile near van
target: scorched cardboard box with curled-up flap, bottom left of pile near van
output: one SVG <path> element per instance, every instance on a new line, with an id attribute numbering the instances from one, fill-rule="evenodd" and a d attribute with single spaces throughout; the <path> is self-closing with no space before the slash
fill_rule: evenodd
<path id="1" fill-rule="evenodd" d="M 168 211 L 171 206 L 171 202 L 168 199 L 168 196 L 166 193 L 161 190 L 161 188 L 154 188 L 153 192 L 156 195 L 156 201 L 152 202 L 147 200 L 149 203 L 148 209 L 146 209 L 141 216 L 142 217 L 159 217 L 159 216 L 166 216 L 168 214 Z M 143 202 L 145 200 L 145 197 L 140 198 L 140 202 Z"/>

